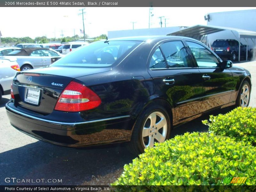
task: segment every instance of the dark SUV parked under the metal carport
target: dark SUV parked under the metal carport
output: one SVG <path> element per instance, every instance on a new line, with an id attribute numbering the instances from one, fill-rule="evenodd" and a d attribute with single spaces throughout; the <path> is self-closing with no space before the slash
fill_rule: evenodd
<path id="1" fill-rule="evenodd" d="M 235 39 L 217 39 L 212 44 L 214 51 L 221 59 L 236 60 L 239 53 L 239 42 Z M 240 56 L 246 57 L 246 45 L 240 45 Z"/>

